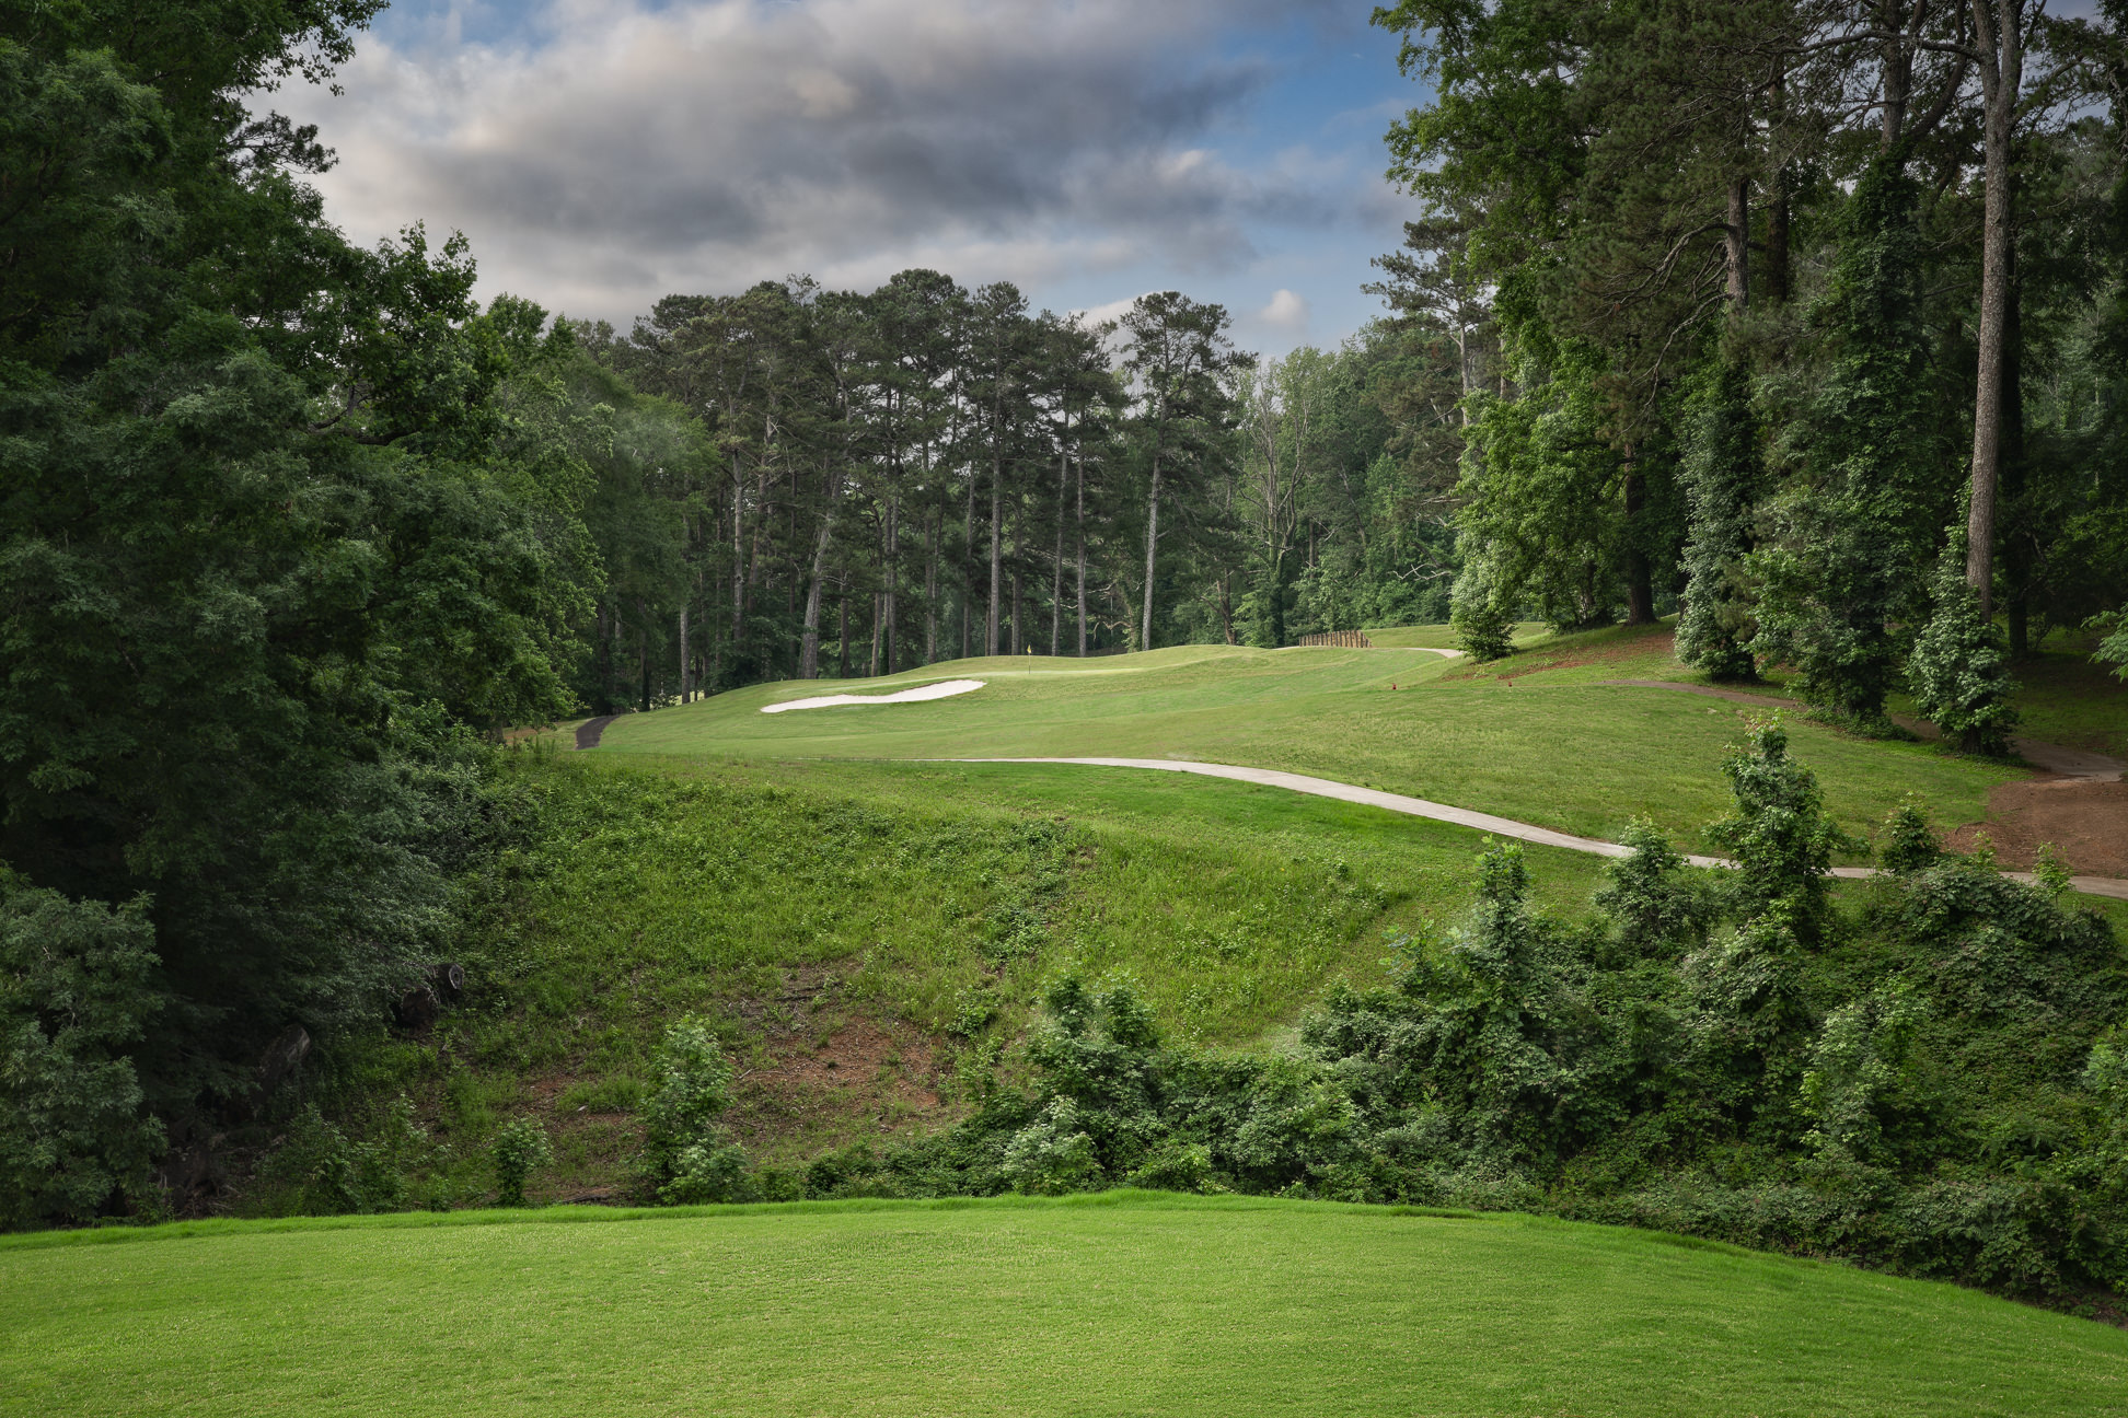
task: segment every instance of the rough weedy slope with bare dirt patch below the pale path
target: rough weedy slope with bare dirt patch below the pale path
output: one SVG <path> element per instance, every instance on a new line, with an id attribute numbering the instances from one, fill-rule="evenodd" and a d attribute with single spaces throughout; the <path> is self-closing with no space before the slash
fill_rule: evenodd
<path id="1" fill-rule="evenodd" d="M 624 1186 L 626 1114 L 689 1010 L 738 1059 L 732 1122 L 766 1163 L 936 1127 L 962 1101 L 955 1027 L 1017 1037 L 1064 967 L 1136 978 L 1177 1037 L 1258 1042 L 1332 980 L 1377 980 L 1385 931 L 1462 912 L 1479 848 L 1164 774 L 619 755 L 526 772 L 545 829 L 468 931 L 472 1006 L 379 1040 L 351 1080 L 358 1099 L 404 1093 L 449 1148 L 417 1167 L 417 1199 L 489 1195 L 485 1140 L 521 1112 L 555 1131 L 534 1199 Z M 1528 861 L 1541 901 L 1585 908 L 1594 859 Z M 249 1205 L 294 1203 L 268 1186 Z"/>

